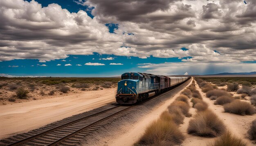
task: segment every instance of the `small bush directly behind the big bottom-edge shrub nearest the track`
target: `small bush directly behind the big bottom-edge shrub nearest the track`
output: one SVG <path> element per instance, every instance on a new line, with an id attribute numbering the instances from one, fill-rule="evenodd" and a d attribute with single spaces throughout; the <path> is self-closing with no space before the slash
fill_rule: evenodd
<path id="1" fill-rule="evenodd" d="M 179 107 L 170 105 L 168 106 L 168 111 L 173 117 L 173 122 L 176 124 L 183 124 L 184 115 L 182 114 L 182 110 Z"/>

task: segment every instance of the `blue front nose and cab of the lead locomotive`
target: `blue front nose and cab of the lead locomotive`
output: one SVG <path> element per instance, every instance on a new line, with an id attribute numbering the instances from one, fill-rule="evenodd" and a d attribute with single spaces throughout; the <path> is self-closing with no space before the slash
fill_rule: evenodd
<path id="1" fill-rule="evenodd" d="M 139 78 L 138 73 L 124 73 L 117 84 L 116 100 L 119 104 L 134 104 L 137 102 Z"/>

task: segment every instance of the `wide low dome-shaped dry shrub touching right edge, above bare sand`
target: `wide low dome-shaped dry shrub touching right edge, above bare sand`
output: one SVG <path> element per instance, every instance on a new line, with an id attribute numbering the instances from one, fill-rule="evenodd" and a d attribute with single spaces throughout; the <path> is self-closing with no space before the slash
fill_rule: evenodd
<path id="1" fill-rule="evenodd" d="M 234 100 L 229 104 L 224 105 L 224 110 L 227 113 L 234 113 L 237 115 L 252 115 L 256 113 L 256 109 L 248 102 L 241 100 Z"/>

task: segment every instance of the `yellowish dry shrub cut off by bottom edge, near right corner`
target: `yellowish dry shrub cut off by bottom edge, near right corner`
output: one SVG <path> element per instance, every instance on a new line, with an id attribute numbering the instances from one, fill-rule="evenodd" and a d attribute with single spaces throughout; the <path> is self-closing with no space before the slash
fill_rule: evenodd
<path id="1" fill-rule="evenodd" d="M 247 146 L 247 143 L 227 131 L 208 146 Z"/>

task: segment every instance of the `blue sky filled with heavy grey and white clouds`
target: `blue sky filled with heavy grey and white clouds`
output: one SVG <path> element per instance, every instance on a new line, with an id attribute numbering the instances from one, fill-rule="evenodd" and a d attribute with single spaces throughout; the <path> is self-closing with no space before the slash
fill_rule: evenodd
<path id="1" fill-rule="evenodd" d="M 256 71 L 256 1 L 2 0 L 0 76 Z"/>

